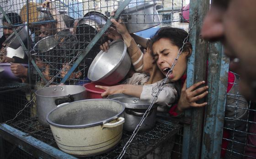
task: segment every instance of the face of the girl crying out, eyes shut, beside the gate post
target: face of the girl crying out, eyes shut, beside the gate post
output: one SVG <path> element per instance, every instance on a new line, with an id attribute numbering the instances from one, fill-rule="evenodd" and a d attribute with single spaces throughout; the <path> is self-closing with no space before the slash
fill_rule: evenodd
<path id="1" fill-rule="evenodd" d="M 173 45 L 167 38 L 161 38 L 154 42 L 152 46 L 154 58 L 157 62 L 157 66 L 166 76 L 167 72 L 171 69 L 172 63 L 175 61 L 179 48 Z M 175 82 L 179 80 L 187 71 L 187 53 L 181 53 L 178 58 L 176 66 L 173 68 L 171 75 L 168 78 Z"/>

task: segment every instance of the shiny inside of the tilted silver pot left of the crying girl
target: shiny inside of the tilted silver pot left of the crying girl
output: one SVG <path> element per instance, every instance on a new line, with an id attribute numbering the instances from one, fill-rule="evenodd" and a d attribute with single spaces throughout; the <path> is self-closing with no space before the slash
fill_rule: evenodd
<path id="1" fill-rule="evenodd" d="M 124 47 L 123 41 L 117 41 L 110 45 L 107 52 L 99 52 L 92 62 L 92 66 L 89 68 L 89 70 L 91 69 L 91 72 L 94 72 L 93 77 L 91 77 L 92 81 L 97 81 L 102 77 L 105 77 L 107 73 L 112 72 L 121 61 Z"/>

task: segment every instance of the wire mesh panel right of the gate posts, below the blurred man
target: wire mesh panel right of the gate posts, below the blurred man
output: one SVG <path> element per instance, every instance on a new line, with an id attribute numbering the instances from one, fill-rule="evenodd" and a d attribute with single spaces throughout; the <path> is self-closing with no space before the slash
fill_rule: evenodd
<path id="1" fill-rule="evenodd" d="M 254 158 L 251 155 L 251 139 L 256 135 L 252 131 L 255 121 L 254 103 L 240 94 L 239 75 L 229 72 L 228 90 L 225 106 L 224 132 L 221 157 L 225 159 Z"/>

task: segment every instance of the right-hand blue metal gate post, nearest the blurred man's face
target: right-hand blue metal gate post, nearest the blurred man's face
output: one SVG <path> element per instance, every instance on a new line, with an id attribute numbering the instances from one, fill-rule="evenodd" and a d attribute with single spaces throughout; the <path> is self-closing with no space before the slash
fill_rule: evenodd
<path id="1" fill-rule="evenodd" d="M 224 111 L 229 72 L 229 59 L 224 56 L 220 42 L 209 46 L 208 106 L 203 128 L 203 159 L 219 159 L 224 124 Z"/>

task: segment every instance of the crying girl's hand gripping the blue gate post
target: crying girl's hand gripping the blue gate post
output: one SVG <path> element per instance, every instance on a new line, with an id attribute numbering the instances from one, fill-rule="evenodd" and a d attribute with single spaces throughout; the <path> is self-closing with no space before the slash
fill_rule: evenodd
<path id="1" fill-rule="evenodd" d="M 187 89 L 186 82 L 187 80 L 184 82 L 184 85 L 181 89 L 181 97 L 176 108 L 177 113 L 182 113 L 185 109 L 191 107 L 204 107 L 207 105 L 206 102 L 201 104 L 196 103 L 198 100 L 202 99 L 208 94 L 208 91 L 206 91 L 208 89 L 208 86 L 197 88 L 203 85 L 205 81 L 197 82 Z"/>

